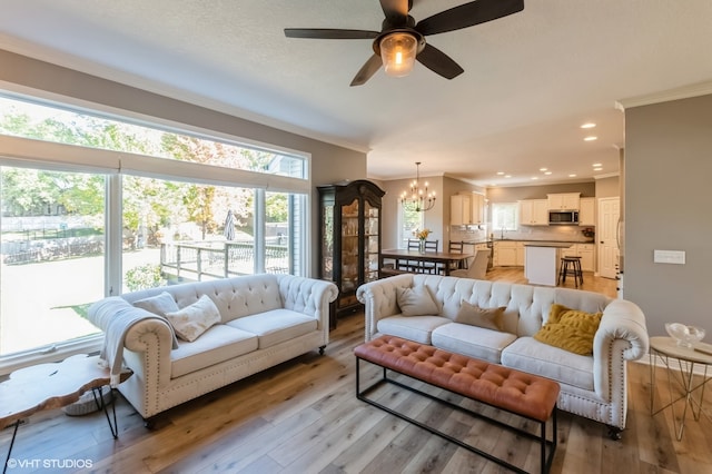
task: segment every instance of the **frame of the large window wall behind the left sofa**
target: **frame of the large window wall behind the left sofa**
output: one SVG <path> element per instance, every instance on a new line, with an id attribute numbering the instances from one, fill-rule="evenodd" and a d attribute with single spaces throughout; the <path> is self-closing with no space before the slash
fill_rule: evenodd
<path id="1" fill-rule="evenodd" d="M 0 91 L 2 97 L 17 99 L 20 101 L 29 101 L 41 106 L 55 107 L 59 109 L 69 109 L 77 113 L 87 113 L 95 117 L 106 116 L 112 120 L 126 120 L 137 124 L 136 119 L 127 117 L 117 117 L 111 115 L 102 115 L 96 110 L 87 112 L 70 106 L 57 106 L 42 101 L 41 99 L 14 97 L 13 95 Z M 155 120 L 155 121 L 154 121 Z M 103 174 L 106 176 L 106 260 L 105 260 L 105 296 L 118 295 L 122 288 L 122 265 L 121 265 L 121 233 L 111 229 L 121 229 L 121 190 L 122 176 L 135 175 L 142 177 L 151 177 L 157 179 L 178 180 L 184 182 L 192 182 L 200 185 L 216 185 L 228 187 L 246 187 L 255 189 L 256 194 L 256 213 L 260 219 L 256 223 L 256 247 L 261 246 L 264 250 L 265 243 L 259 240 L 258 230 L 263 229 L 261 238 L 264 239 L 265 228 L 265 191 L 287 192 L 290 196 L 290 207 L 299 208 L 306 218 L 300 218 L 295 226 L 289 226 L 289 233 L 294 234 L 294 238 L 289 241 L 299 248 L 293 248 L 293 258 L 290 260 L 290 271 L 295 275 L 308 275 L 310 261 L 310 248 L 307 243 L 310 241 L 312 221 L 312 156 L 308 152 L 288 150 L 278 146 L 256 145 L 251 140 L 243 140 L 238 137 L 230 137 L 226 134 L 199 129 L 194 126 L 174 124 L 168 127 L 166 120 L 160 119 L 139 120 L 151 128 L 159 128 L 166 131 L 196 136 L 204 139 L 215 139 L 216 141 L 245 148 L 257 148 L 259 150 L 274 151 L 275 154 L 284 154 L 290 157 L 297 157 L 303 160 L 303 178 L 294 178 L 281 175 L 264 174 L 244 169 L 226 168 L 215 165 L 201 165 L 190 161 L 179 161 L 166 158 L 152 157 L 139 154 L 127 154 L 122 151 L 112 151 L 98 148 L 88 148 L 76 145 L 66 145 L 59 142 L 42 141 L 16 136 L 0 135 L 0 165 L 10 167 L 39 168 L 58 171 L 75 172 L 92 172 Z M 243 145 L 244 144 L 244 145 Z M 259 198 L 261 196 L 261 198 Z M 291 237 L 291 236 L 290 236 Z M 298 243 L 301 243 L 299 245 Z M 256 263 L 256 270 L 264 269 L 264 251 L 260 253 L 261 263 Z M 118 288 L 118 292 L 117 292 Z M 85 336 L 76 339 L 57 342 L 51 346 L 28 349 L 0 356 L 0 376 L 9 374 L 18 368 L 43 363 L 53 362 L 66 358 L 73 354 L 96 353 L 101 346 L 101 335 Z"/>

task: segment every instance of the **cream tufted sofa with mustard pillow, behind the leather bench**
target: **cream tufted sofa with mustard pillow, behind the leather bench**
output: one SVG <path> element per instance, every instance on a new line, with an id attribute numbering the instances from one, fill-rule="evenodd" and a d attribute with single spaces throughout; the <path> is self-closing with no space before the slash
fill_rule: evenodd
<path id="1" fill-rule="evenodd" d="M 439 313 L 403 316 L 396 288 L 419 285 L 429 289 Z M 552 378 L 561 385 L 561 409 L 605 423 L 613 438 L 625 428 L 626 361 L 643 357 L 649 344 L 645 317 L 632 302 L 577 289 L 411 274 L 365 284 L 356 295 L 365 305 L 366 340 L 388 334 Z M 483 308 L 506 306 L 504 332 L 454 323 L 463 299 Z M 554 303 L 603 312 L 592 356 L 532 337 Z"/>

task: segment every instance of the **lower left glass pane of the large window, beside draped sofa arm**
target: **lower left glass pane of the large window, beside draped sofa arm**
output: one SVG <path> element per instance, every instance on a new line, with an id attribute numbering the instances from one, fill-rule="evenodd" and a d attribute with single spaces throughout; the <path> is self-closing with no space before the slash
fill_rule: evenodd
<path id="1" fill-rule="evenodd" d="M 0 357 L 98 333 L 105 178 L 0 167 Z"/>

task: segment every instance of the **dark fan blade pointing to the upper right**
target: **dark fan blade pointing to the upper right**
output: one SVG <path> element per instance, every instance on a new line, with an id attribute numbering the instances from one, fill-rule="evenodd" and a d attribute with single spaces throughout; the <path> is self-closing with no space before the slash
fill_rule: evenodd
<path id="1" fill-rule="evenodd" d="M 524 0 L 476 0 L 418 21 L 424 36 L 459 30 L 524 10 Z"/>

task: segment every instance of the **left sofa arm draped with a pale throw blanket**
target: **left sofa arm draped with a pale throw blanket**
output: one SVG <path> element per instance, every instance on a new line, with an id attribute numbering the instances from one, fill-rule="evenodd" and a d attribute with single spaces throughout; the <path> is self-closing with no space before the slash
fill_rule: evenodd
<path id="1" fill-rule="evenodd" d="M 87 316 L 95 326 L 106 333 L 111 319 L 118 315 L 128 315 L 129 319 L 134 316 L 135 319 L 123 338 L 125 359 L 135 376 L 154 381 L 159 386 L 167 384 L 170 381 L 170 352 L 175 338 L 168 320 L 137 308 L 118 296 L 95 303 L 89 307 Z M 135 356 L 128 357 L 126 350 L 135 353 Z M 128 364 L 129 359 L 140 363 Z"/>

